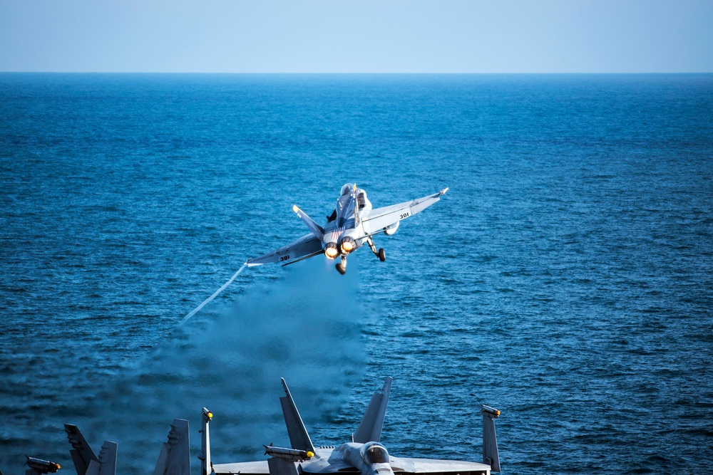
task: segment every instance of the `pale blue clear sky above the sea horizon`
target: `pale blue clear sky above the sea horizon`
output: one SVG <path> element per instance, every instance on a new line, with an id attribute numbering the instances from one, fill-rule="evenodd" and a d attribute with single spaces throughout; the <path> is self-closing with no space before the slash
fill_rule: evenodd
<path id="1" fill-rule="evenodd" d="M 710 73 L 713 0 L 0 0 L 0 71 Z"/>

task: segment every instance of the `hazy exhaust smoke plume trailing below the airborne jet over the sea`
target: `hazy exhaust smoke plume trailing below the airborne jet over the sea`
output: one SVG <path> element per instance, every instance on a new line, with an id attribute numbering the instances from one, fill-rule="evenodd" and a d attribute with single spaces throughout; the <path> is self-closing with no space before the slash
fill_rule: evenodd
<path id="1" fill-rule="evenodd" d="M 289 444 L 278 398 L 284 377 L 302 418 L 333 417 L 361 380 L 361 309 L 356 261 L 346 276 L 318 261 L 252 288 L 215 315 L 197 315 L 145 357 L 135 372 L 94 398 L 84 422 L 98 447 L 118 442 L 119 473 L 153 470 L 175 417 L 190 423 L 198 470 L 200 409 L 208 407 L 216 464 Z"/>

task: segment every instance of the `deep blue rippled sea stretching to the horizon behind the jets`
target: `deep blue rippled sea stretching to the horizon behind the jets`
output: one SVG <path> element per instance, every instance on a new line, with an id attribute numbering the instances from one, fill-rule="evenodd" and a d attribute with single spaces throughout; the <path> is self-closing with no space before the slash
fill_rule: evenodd
<path id="1" fill-rule="evenodd" d="M 356 182 L 443 187 L 339 276 L 250 268 Z M 0 74 L 0 469 L 62 423 L 153 470 L 317 444 L 394 377 L 391 454 L 505 474 L 713 471 L 713 75 Z"/>

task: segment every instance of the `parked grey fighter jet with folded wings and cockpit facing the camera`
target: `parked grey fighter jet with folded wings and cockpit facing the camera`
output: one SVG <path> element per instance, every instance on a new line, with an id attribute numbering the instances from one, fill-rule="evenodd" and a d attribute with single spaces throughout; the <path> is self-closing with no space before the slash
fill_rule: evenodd
<path id="1" fill-rule="evenodd" d="M 391 456 L 386 447 L 379 443 L 391 381 L 391 377 L 386 378 L 381 392 L 374 392 L 359 428 L 352 435 L 352 442 L 339 447 L 315 447 L 283 379 L 285 396 L 280 397 L 279 402 L 282 404 L 284 423 L 292 447 L 273 447 L 272 444 L 264 446 L 265 454 L 270 456 L 267 461 L 212 464 L 208 448 L 210 442 L 207 439 L 207 422 L 210 419 L 204 417 L 203 453 L 199 457 L 202 461 L 201 474 L 209 475 L 211 468 L 217 475 L 489 475 L 491 471 L 500 471 L 498 442 L 493 422 L 500 415 L 500 411 L 485 405 L 481 408 L 483 463 Z"/>

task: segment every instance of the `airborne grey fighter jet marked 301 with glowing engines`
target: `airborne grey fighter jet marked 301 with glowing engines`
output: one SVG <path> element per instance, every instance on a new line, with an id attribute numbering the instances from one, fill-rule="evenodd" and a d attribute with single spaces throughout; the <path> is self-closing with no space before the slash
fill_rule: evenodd
<path id="1" fill-rule="evenodd" d="M 410 202 L 393 204 L 383 208 L 371 208 L 371 202 L 366 198 L 366 192 L 357 188 L 356 184 L 347 183 L 342 187 L 342 192 L 337 198 L 337 206 L 331 216 L 327 216 L 327 224 L 319 226 L 316 221 L 307 216 L 297 206 L 292 211 L 297 213 L 310 232 L 297 241 L 292 241 L 287 246 L 281 247 L 254 259 L 247 260 L 247 266 L 260 266 L 262 264 L 279 262 L 283 266 L 303 259 L 308 259 L 319 254 L 324 254 L 329 260 L 339 257 L 335 265 L 337 271 L 344 275 L 347 272 L 347 256 L 359 249 L 364 242 L 369 245 L 371 252 L 381 262 L 386 260 L 384 249 L 376 250 L 371 236 L 384 233 L 391 236 L 399 229 L 402 219 L 438 202 L 448 188 L 441 189 L 436 194 L 414 199 Z"/>

